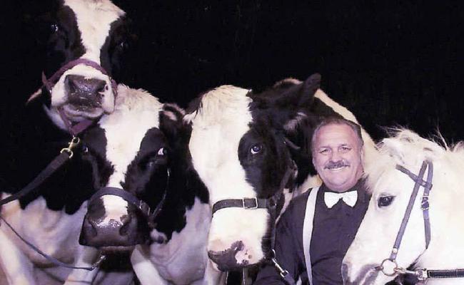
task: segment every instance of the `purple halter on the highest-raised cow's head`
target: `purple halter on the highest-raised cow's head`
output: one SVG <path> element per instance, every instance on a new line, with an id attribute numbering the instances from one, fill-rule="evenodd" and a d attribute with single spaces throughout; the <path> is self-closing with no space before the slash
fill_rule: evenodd
<path id="1" fill-rule="evenodd" d="M 64 66 L 61 66 L 58 71 L 56 71 L 50 78 L 46 78 L 45 73 L 42 72 L 42 83 L 43 86 L 46 88 L 46 90 L 51 93 L 51 89 L 55 86 L 55 84 L 59 81 L 59 78 L 63 76 L 63 74 L 66 71 L 69 71 L 69 69 L 74 68 L 74 66 L 77 66 L 79 64 L 84 64 L 86 66 L 90 66 L 91 68 L 95 68 L 97 71 L 100 71 L 103 73 L 105 76 L 108 76 L 110 81 L 111 81 L 111 90 L 113 90 L 113 94 L 116 97 L 118 94 L 118 85 L 116 81 L 114 81 L 111 76 L 109 76 L 109 73 L 106 72 L 106 70 L 99 65 L 99 63 L 96 63 L 95 61 L 91 61 L 86 58 L 78 58 L 74 61 L 69 61 L 69 63 L 64 64 Z M 61 117 L 61 120 L 64 121 L 64 124 L 66 125 L 66 128 L 68 128 L 69 133 L 71 135 L 77 136 L 79 133 L 81 133 L 83 130 L 88 128 L 92 123 L 94 123 L 93 120 L 85 119 L 82 120 L 79 123 L 72 124 L 68 118 L 66 118 L 66 115 L 64 115 L 63 110 L 61 108 L 58 108 L 58 113 Z"/>

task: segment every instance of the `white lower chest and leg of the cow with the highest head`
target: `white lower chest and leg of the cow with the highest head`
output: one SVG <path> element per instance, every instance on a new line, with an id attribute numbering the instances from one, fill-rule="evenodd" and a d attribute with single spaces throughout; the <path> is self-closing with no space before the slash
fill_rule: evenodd
<path id="1" fill-rule="evenodd" d="M 8 195 L 2 195 L 2 199 Z M 86 204 L 75 214 L 51 211 L 43 198 L 28 204 L 26 209 L 14 201 L 1 207 L 1 215 L 22 237 L 36 245 L 41 251 L 56 259 L 73 264 L 75 258 L 84 252 L 78 242 Z M 24 222 L 27 221 L 27 222 Z M 53 242 L 51 242 L 53 241 Z M 0 223 L 0 262 L 10 284 L 51 284 L 51 280 L 37 280 L 35 266 L 51 266 L 49 261 L 36 253 L 4 223 Z M 59 269 L 53 278 L 64 281 L 70 269 Z"/>

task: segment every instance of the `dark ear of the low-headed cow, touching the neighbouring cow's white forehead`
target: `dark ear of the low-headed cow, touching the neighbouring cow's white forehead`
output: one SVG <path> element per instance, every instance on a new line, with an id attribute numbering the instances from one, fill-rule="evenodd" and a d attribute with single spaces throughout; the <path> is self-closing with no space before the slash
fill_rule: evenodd
<path id="1" fill-rule="evenodd" d="M 159 128 L 170 142 L 176 140 L 181 130 L 185 128 L 183 115 L 185 115 L 185 110 L 171 103 L 164 104 L 159 113 Z"/>

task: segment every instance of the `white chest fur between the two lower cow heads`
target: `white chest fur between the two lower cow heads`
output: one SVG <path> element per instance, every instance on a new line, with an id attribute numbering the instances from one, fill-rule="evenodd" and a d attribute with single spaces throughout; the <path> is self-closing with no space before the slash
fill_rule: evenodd
<path id="1" fill-rule="evenodd" d="M 153 276 L 161 276 L 173 284 L 191 284 L 203 279 L 208 261 L 206 239 L 210 217 L 208 204 L 196 198 L 193 207 L 186 212 L 186 227 L 174 232 L 168 243 L 138 246 L 131 261 L 141 284 L 163 284 Z M 151 235 L 156 239 L 160 233 L 153 230 Z M 146 263 L 147 259 L 150 264 Z"/>

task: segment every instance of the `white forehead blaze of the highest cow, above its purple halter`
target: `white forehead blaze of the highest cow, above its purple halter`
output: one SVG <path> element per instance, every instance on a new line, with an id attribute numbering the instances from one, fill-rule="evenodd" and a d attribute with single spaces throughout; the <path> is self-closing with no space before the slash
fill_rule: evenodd
<path id="1" fill-rule="evenodd" d="M 124 11 L 108 0 L 64 0 L 64 5 L 74 11 L 81 32 L 84 57 L 99 61 L 101 46 L 109 36 L 111 23 L 124 15 Z"/>

